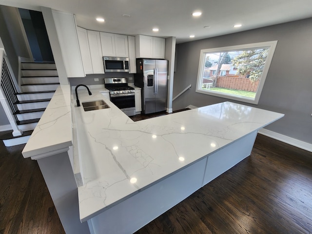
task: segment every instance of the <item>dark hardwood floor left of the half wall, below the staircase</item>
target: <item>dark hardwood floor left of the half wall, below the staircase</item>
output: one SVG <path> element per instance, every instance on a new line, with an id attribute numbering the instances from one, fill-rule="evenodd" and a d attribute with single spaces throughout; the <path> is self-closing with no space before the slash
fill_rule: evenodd
<path id="1" fill-rule="evenodd" d="M 65 234 L 37 161 L 0 141 L 0 234 Z"/>

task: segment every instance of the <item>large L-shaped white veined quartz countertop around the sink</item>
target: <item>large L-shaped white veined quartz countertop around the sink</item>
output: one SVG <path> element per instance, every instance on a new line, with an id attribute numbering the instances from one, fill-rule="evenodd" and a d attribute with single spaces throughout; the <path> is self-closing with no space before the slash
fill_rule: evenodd
<path id="1" fill-rule="evenodd" d="M 87 112 L 72 107 L 82 222 L 284 116 L 223 102 L 134 122 L 101 89 L 91 89 L 92 96 L 78 91 L 80 103 L 103 99 L 111 107 Z"/>

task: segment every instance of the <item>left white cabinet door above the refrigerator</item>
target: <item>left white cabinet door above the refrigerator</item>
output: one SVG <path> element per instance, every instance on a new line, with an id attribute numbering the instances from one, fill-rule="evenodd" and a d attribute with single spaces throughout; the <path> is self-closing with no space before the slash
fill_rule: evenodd
<path id="1" fill-rule="evenodd" d="M 136 57 L 153 59 L 153 37 L 136 36 Z"/>

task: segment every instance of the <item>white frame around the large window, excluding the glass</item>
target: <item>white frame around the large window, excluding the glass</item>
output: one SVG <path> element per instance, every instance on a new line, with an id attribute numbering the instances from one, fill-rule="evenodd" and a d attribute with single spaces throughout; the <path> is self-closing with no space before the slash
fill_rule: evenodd
<path id="1" fill-rule="evenodd" d="M 262 92 L 262 88 L 264 86 L 265 79 L 267 78 L 267 74 L 269 72 L 269 68 L 271 65 L 271 61 L 273 59 L 273 55 L 275 52 L 275 48 L 277 45 L 277 40 L 274 41 L 266 41 L 266 42 L 259 42 L 259 43 L 251 43 L 251 44 L 244 44 L 244 45 L 234 45 L 234 46 L 227 46 L 227 47 L 219 47 L 219 48 L 212 48 L 212 49 L 202 49 L 200 50 L 200 57 L 199 57 L 199 65 L 198 65 L 198 74 L 197 74 L 197 83 L 196 83 L 196 91 L 197 93 L 201 94 L 208 94 L 216 97 L 221 98 L 228 98 L 237 101 L 243 101 L 252 104 L 258 104 L 260 95 Z M 215 53 L 215 52 L 228 52 L 228 51 L 238 51 L 238 50 L 254 50 L 254 49 L 261 49 L 261 48 L 268 48 L 268 56 L 265 61 L 265 65 L 262 71 L 262 75 L 260 78 L 260 82 L 258 85 L 258 89 L 255 95 L 255 98 L 245 98 L 236 95 L 230 94 L 223 94 L 219 92 L 214 92 L 211 90 L 203 90 L 201 89 L 202 77 L 204 72 L 204 64 L 205 64 L 205 54 L 206 53 Z"/>

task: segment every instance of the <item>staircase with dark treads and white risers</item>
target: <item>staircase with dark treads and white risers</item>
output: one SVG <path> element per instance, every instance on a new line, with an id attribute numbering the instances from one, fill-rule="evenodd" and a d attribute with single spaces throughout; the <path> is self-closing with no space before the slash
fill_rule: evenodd
<path id="1" fill-rule="evenodd" d="M 21 62 L 20 93 L 16 93 L 17 106 L 13 115 L 17 125 L 23 131 L 21 136 L 5 134 L 0 137 L 6 146 L 26 143 L 37 126 L 49 101 L 59 86 L 55 63 Z"/>

